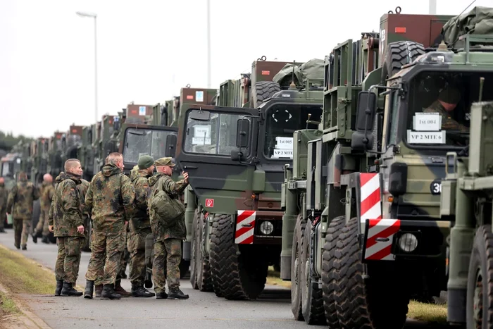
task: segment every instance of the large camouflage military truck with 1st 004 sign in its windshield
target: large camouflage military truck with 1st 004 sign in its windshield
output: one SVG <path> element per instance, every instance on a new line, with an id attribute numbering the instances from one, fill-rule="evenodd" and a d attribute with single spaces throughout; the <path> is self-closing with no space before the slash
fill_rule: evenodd
<path id="1" fill-rule="evenodd" d="M 473 45 L 485 37 L 466 36 L 460 48 L 446 40 L 454 49 L 442 42 L 444 23 L 457 20 L 398 8 L 382 15 L 377 35 L 325 58 L 322 122 L 294 133 L 282 187 L 283 222 L 294 230 L 282 235 L 292 257 L 281 275 L 292 281 L 297 320 L 402 328 L 413 294 L 447 290 L 455 218 L 440 213 L 440 182 L 456 168 L 447 152 L 468 144 L 480 76 L 492 72 Z"/>

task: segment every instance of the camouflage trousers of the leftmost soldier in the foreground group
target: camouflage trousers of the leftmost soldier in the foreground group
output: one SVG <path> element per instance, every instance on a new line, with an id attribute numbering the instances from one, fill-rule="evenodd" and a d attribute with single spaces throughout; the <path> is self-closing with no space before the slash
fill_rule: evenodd
<path id="1" fill-rule="evenodd" d="M 57 237 L 58 255 L 55 263 L 55 278 L 66 283 L 75 283 L 79 277 L 80 253 L 84 237 Z"/>

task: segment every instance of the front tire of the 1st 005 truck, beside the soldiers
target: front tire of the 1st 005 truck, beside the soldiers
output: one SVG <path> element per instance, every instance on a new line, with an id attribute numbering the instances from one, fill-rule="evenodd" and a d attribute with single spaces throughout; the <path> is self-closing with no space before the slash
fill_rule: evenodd
<path id="1" fill-rule="evenodd" d="M 231 215 L 216 215 L 211 232 L 214 284 L 226 299 L 256 299 L 266 285 L 268 261 L 254 246 L 235 244 Z M 216 266 L 217 264 L 217 266 Z"/>

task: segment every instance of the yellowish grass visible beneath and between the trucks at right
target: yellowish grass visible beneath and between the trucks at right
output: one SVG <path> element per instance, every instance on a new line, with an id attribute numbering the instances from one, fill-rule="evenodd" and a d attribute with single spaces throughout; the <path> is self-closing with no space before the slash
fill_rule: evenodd
<path id="1" fill-rule="evenodd" d="M 268 269 L 267 284 L 286 288 L 291 287 L 291 282 L 281 280 L 280 273 L 274 271 L 273 266 Z M 407 316 L 408 318 L 429 323 L 447 323 L 447 304 L 428 304 L 411 300 Z"/>

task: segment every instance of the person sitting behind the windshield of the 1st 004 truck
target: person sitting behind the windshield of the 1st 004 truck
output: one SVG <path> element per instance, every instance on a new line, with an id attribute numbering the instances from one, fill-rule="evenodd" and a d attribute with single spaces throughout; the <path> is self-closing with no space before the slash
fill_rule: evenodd
<path id="1" fill-rule="evenodd" d="M 461 92 L 451 85 L 447 85 L 438 95 L 438 99 L 434 101 L 425 112 L 439 113 L 442 116 L 442 130 L 460 130 L 461 132 L 469 132 L 469 128 L 458 123 L 451 118 L 458 102 L 461 100 Z"/>

